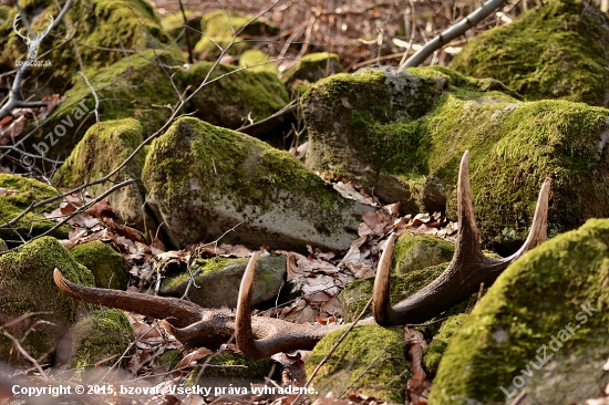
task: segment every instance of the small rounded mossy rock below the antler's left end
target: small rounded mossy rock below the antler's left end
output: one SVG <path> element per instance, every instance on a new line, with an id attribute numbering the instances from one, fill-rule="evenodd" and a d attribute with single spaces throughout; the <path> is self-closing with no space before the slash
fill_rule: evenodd
<path id="1" fill-rule="evenodd" d="M 112 365 L 123 354 L 133 354 L 127 353 L 130 344 L 133 343 L 133 330 L 121 310 L 93 311 L 74 325 L 72 336 L 72 366 L 80 370 Z"/>

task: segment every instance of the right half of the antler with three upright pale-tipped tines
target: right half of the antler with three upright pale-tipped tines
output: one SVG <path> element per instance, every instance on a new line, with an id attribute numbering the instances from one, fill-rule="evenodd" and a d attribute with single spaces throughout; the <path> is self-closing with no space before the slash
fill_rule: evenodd
<path id="1" fill-rule="evenodd" d="M 453 260 L 432 283 L 392 308 L 389 298 L 391 255 L 395 241 L 395 235 L 392 235 L 381 256 L 374 280 L 373 313 L 374 320 L 380 325 L 420 323 L 438 315 L 478 291 L 481 283 L 489 287 L 509 263 L 546 240 L 548 198 L 551 183 L 549 178 L 546 178 L 541 185 L 533 226 L 523 247 L 516 253 L 499 260 L 484 256 L 474 218 L 468 157 L 469 153 L 466 150 L 458 172 L 458 235 Z"/>

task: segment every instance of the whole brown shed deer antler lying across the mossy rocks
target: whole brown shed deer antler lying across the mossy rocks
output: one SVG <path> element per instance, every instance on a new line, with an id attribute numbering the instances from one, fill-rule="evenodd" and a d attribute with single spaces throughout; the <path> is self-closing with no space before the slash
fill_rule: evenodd
<path id="1" fill-rule="evenodd" d="M 546 239 L 549 178 L 544 180 L 539 191 L 533 226 L 523 247 L 513 256 L 499 260 L 483 255 L 474 218 L 467 159 L 468 153 L 465 152 L 457 184 L 457 242 L 448 268 L 427 287 L 391 307 L 389 283 L 396 238 L 391 235 L 374 280 L 374 318 L 362 322 L 375 320 L 380 325 L 425 322 L 478 291 L 481 283 L 489 287 L 509 263 Z M 235 335 L 244 354 L 255 359 L 268 357 L 278 352 L 312 349 L 327 333 L 345 326 L 304 325 L 252 316 L 251 284 L 257 258 L 255 253 L 244 273 L 235 315 L 176 298 L 78 285 L 68 281 L 58 269 L 53 277 L 56 285 L 75 299 L 164 319 L 169 332 L 187 346 L 218 346 Z"/>

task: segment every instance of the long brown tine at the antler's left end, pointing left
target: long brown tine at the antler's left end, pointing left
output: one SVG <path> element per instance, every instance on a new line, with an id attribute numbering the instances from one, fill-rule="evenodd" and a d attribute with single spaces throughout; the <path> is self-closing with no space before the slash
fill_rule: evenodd
<path id="1" fill-rule="evenodd" d="M 53 271 L 53 279 L 63 292 L 84 302 L 118 308 L 157 319 L 165 319 L 167 314 L 172 314 L 176 319 L 168 321 L 178 328 L 184 328 L 202 320 L 202 308 L 189 301 L 138 292 L 79 285 L 66 280 L 59 269 Z"/>

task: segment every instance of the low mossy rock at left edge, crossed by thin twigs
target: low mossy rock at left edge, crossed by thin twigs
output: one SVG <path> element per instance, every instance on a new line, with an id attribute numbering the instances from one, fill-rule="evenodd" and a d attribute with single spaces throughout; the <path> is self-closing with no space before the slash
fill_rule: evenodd
<path id="1" fill-rule="evenodd" d="M 33 178 L 0 174 L 0 224 L 4 225 L 0 229 L 0 238 L 14 246 L 52 229 L 58 222 L 45 219 L 43 214 L 51 211 L 59 202 L 54 206 L 49 205 L 47 208 L 34 209 L 21 217 L 17 224 L 11 226 L 8 226 L 8 224 L 17 219 L 32 204 L 58 195 L 59 191 L 55 188 Z M 50 235 L 64 239 L 68 238 L 68 232 L 71 230 L 72 228 L 65 225 Z"/>

